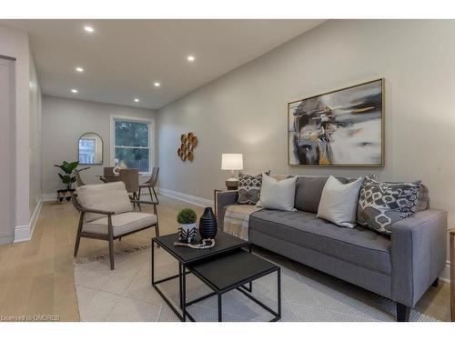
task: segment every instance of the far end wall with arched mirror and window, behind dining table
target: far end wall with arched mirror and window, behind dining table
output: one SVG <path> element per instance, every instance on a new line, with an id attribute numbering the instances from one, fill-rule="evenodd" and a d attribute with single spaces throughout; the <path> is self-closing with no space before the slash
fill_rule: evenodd
<path id="1" fill-rule="evenodd" d="M 55 198 L 62 188 L 58 168 L 54 165 L 76 161 L 77 141 L 85 133 L 96 133 L 103 139 L 103 165 L 90 165 L 81 173 L 88 184 L 99 184 L 96 177 L 103 174 L 103 167 L 110 165 L 110 117 L 126 115 L 155 118 L 155 111 L 131 106 L 43 96 L 43 192 Z M 154 162 L 155 163 L 155 162 Z M 81 165 L 83 167 L 85 165 Z"/>

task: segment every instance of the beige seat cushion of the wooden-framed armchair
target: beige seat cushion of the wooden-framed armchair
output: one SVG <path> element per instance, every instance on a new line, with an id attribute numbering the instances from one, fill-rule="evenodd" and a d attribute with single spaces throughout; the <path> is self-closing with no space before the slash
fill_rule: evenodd
<path id="1" fill-rule="evenodd" d="M 114 236 L 120 236 L 142 227 L 152 226 L 157 223 L 157 216 L 142 212 L 126 212 L 112 216 L 112 229 Z M 84 232 L 98 235 L 107 235 L 107 217 L 96 219 L 82 227 Z"/>

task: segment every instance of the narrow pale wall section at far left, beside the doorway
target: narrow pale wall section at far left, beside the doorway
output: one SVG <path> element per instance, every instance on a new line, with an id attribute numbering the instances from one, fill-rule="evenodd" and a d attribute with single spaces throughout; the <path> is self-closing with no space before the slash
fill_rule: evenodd
<path id="1" fill-rule="evenodd" d="M 29 103 L 29 46 L 28 35 L 20 30 L 0 25 L 0 55 L 15 57 L 15 235 L 30 226 L 29 198 L 30 183 L 30 103 Z M 17 239 L 15 237 L 15 239 Z M 18 239 L 22 239 L 19 236 Z"/>

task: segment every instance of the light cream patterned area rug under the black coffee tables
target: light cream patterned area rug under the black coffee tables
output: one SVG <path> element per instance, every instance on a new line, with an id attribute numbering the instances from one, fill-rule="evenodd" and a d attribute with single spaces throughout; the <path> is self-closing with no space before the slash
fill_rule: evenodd
<path id="1" fill-rule="evenodd" d="M 79 257 L 75 283 L 81 321 L 178 321 L 150 284 L 150 247 L 139 246 L 116 254 L 116 269 L 107 256 Z M 177 274 L 177 262 L 163 248 L 156 249 L 156 276 Z M 281 266 L 281 321 L 349 322 L 395 321 L 395 304 L 358 286 L 349 285 L 287 258 L 255 249 L 258 256 Z M 177 279 L 160 285 L 177 306 Z M 196 276 L 187 276 L 187 300 L 210 292 Z M 270 274 L 253 284 L 253 295 L 273 309 L 277 306 L 277 277 Z M 188 311 L 197 321 L 217 321 L 217 297 L 212 296 Z M 266 310 L 234 290 L 223 296 L 223 321 L 268 321 Z M 436 319 L 411 310 L 410 321 Z"/>

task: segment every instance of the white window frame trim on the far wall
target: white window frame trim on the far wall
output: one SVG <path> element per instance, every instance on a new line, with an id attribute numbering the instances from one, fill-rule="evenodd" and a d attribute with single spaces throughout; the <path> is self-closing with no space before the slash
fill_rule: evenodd
<path id="1" fill-rule="evenodd" d="M 139 173 L 140 176 L 150 176 L 155 165 L 155 149 L 157 146 L 155 140 L 155 120 L 147 117 L 135 117 L 128 115 L 111 115 L 110 123 L 110 165 L 115 165 L 116 158 L 116 121 L 129 121 L 145 123 L 148 125 L 148 173 Z"/>

